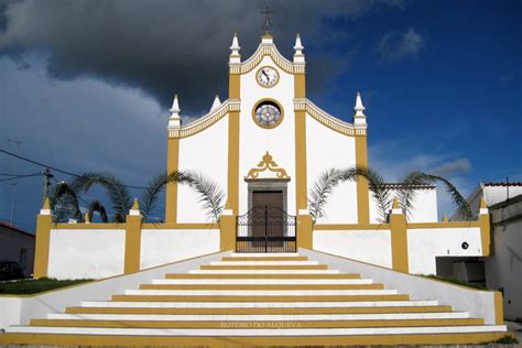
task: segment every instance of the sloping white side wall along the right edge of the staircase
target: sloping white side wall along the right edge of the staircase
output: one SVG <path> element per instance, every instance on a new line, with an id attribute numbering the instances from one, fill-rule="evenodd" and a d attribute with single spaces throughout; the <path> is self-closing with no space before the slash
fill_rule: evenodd
<path id="1" fill-rule="evenodd" d="M 471 317 L 483 318 L 487 325 L 496 324 L 494 293 L 478 291 L 449 283 L 434 281 L 407 273 L 395 272 L 378 265 L 300 248 L 300 254 L 328 264 L 334 270 L 358 273 L 409 294 L 412 300 L 437 300 L 441 305 L 450 305 L 454 311 L 469 312 Z"/>

